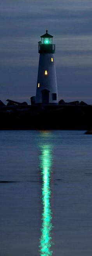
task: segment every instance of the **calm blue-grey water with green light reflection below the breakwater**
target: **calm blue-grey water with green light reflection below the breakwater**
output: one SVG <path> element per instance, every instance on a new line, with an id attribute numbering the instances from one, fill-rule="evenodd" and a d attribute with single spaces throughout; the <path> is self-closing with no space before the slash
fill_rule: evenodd
<path id="1" fill-rule="evenodd" d="M 92 136 L 0 131 L 0 256 L 92 255 Z"/>

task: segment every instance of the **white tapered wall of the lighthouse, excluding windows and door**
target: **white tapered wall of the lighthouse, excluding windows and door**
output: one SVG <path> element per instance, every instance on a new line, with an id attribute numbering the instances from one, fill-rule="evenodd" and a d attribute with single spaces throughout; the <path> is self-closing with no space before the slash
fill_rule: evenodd
<path id="1" fill-rule="evenodd" d="M 53 62 L 51 62 L 53 58 Z M 47 70 L 48 75 L 44 72 Z M 38 88 L 38 83 L 40 87 Z M 49 93 L 49 103 L 58 104 L 57 78 L 55 69 L 55 57 L 53 53 L 41 53 L 39 56 L 39 68 L 37 78 L 36 102 L 42 103 L 42 90 L 47 89 Z M 57 100 L 52 100 L 52 93 L 57 93 Z"/>

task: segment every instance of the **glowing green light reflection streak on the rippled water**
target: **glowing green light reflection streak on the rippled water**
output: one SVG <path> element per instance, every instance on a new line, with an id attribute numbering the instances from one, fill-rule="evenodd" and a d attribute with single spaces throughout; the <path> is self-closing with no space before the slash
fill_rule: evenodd
<path id="1" fill-rule="evenodd" d="M 40 156 L 40 168 L 42 176 L 42 227 L 41 227 L 41 238 L 40 238 L 40 256 L 51 256 L 51 245 L 52 237 L 51 230 L 53 228 L 51 220 L 51 206 L 50 206 L 50 179 L 51 179 L 51 167 L 52 167 L 52 148 L 50 145 L 40 146 L 41 156 Z"/>

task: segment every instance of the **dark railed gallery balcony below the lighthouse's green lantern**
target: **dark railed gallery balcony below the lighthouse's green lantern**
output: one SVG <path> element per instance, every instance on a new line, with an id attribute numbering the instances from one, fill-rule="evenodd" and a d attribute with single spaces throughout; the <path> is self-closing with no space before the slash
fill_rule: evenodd
<path id="1" fill-rule="evenodd" d="M 55 53 L 55 44 L 42 44 L 38 45 L 39 53 Z"/>

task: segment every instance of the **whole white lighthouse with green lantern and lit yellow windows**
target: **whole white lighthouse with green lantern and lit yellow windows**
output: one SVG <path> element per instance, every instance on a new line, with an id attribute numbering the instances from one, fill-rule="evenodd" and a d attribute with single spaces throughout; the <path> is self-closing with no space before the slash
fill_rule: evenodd
<path id="1" fill-rule="evenodd" d="M 41 36 L 39 46 L 39 68 L 37 77 L 36 104 L 58 104 L 57 78 L 55 69 L 55 44 L 53 36 L 46 34 Z"/>

